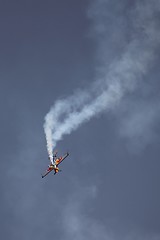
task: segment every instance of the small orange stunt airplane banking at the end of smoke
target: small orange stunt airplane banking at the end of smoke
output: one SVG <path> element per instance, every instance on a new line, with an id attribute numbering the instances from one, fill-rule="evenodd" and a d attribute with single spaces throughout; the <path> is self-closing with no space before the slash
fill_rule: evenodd
<path id="1" fill-rule="evenodd" d="M 54 170 L 54 175 L 61 170 L 58 168 L 58 165 L 66 158 L 68 157 L 69 153 L 67 152 L 64 156 L 62 157 L 57 157 L 57 151 L 53 154 L 53 157 L 49 157 L 50 160 L 50 165 L 48 166 L 48 169 L 44 174 L 42 174 L 42 178 L 47 176 L 50 172 Z"/>

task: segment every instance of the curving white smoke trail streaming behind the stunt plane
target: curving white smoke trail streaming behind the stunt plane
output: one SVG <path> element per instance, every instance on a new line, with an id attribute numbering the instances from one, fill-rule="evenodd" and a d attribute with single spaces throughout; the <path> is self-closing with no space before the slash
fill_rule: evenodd
<path id="1" fill-rule="evenodd" d="M 101 37 L 106 38 L 104 11 L 108 1 L 95 1 L 90 10 L 94 20 L 99 45 Z M 48 153 L 63 135 L 70 134 L 82 123 L 89 121 L 95 115 L 113 109 L 122 97 L 136 88 L 137 82 L 146 74 L 150 63 L 155 57 L 155 50 L 159 45 L 157 13 L 160 2 L 143 1 L 135 6 L 131 12 L 131 34 L 129 43 L 123 54 L 114 60 L 108 68 L 103 68 L 103 79 L 98 79 L 88 91 L 79 91 L 71 97 L 58 100 L 45 117 L 44 131 L 47 140 Z M 105 67 L 105 59 L 104 67 Z"/>

